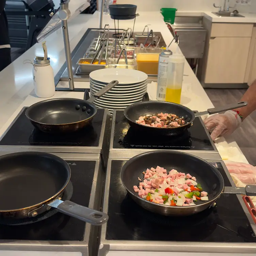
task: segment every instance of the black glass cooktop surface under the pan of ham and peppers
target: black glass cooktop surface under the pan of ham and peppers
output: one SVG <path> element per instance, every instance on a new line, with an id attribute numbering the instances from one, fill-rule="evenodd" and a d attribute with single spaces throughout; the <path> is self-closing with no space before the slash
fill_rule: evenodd
<path id="1" fill-rule="evenodd" d="M 256 242 L 236 195 L 223 194 L 215 207 L 187 217 L 165 217 L 143 209 L 127 195 L 121 182 L 125 162 L 111 162 L 107 240 Z M 231 186 L 222 165 L 213 164 L 225 186 Z"/>

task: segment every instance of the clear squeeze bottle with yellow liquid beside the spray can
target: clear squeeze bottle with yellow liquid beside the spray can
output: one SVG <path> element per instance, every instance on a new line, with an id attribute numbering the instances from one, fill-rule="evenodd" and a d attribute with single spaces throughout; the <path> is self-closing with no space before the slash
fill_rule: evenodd
<path id="1" fill-rule="evenodd" d="M 169 56 L 165 101 L 180 104 L 185 57 L 177 47 L 176 53 Z"/>

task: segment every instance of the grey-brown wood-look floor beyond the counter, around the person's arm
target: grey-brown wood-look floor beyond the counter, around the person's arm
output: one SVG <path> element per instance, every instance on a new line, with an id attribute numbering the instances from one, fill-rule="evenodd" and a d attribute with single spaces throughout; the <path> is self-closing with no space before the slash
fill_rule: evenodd
<path id="1" fill-rule="evenodd" d="M 214 106 L 238 102 L 245 89 L 205 89 Z M 256 165 L 256 111 L 233 133 L 234 139 L 250 164 Z"/>

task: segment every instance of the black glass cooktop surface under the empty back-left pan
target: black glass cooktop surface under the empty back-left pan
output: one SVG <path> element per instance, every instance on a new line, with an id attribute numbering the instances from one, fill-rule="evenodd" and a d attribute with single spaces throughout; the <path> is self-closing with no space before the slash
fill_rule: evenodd
<path id="1" fill-rule="evenodd" d="M 26 109 L 10 127 L 0 141 L 0 145 L 9 146 L 80 146 L 97 147 L 103 122 L 104 109 L 98 109 L 89 125 L 79 132 L 67 134 L 49 134 L 38 129 L 26 117 Z"/>

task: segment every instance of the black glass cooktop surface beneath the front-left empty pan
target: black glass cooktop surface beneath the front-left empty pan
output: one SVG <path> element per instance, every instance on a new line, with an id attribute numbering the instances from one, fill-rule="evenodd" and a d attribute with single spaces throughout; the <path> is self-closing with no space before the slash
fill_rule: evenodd
<path id="1" fill-rule="evenodd" d="M 73 185 L 70 201 L 88 207 L 95 170 L 95 161 L 75 160 L 66 162 L 71 168 L 70 181 Z M 91 171 L 85 172 L 85 168 L 86 170 Z M 12 224 L 14 223 L 15 222 L 13 221 Z M 85 225 L 86 223 L 83 221 L 58 212 L 45 220 L 32 224 L 18 226 L 1 224 L 0 240 L 82 241 Z"/>

